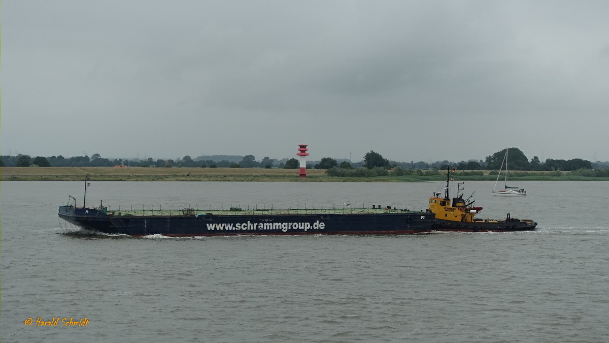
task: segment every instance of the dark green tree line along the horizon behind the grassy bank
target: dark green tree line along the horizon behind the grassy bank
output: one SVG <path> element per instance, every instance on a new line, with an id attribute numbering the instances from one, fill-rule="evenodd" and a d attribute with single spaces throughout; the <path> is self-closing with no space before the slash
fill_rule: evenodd
<path id="1" fill-rule="evenodd" d="M 538 156 L 533 156 L 532 159 L 527 159 L 524 153 L 518 148 L 509 148 L 509 161 L 507 168 L 510 171 L 517 170 L 560 170 L 573 171 L 585 169 L 608 168 L 609 162 L 590 162 L 585 159 L 546 159 L 540 161 Z M 238 161 L 238 160 L 234 160 Z M 285 161 L 285 162 L 283 162 Z M 339 162 L 340 161 L 340 162 Z M 307 168 L 315 169 L 339 169 L 339 170 L 356 170 L 365 168 L 367 170 L 376 170 L 376 173 L 382 173 L 382 170 L 445 170 L 446 168 L 456 168 L 457 170 L 499 170 L 505 168 L 505 150 L 497 151 L 496 153 L 487 156 L 485 160 L 470 160 L 460 162 L 437 161 L 433 163 L 427 162 L 396 162 L 389 161 L 381 154 L 371 150 L 364 155 L 364 159 L 360 162 L 351 162 L 348 160 L 333 159 L 332 157 L 323 157 L 319 163 L 312 162 L 307 165 Z M 100 154 L 89 156 L 36 156 L 18 154 L 17 156 L 0 156 L 0 166 L 4 167 L 28 167 L 30 165 L 38 165 L 39 167 L 113 167 L 115 165 L 125 165 L 128 167 L 202 167 L 202 168 L 289 168 L 296 169 L 299 167 L 298 160 L 290 159 L 271 159 L 266 156 L 261 161 L 256 161 L 253 155 L 242 157 L 241 162 L 231 162 L 227 160 L 213 161 L 211 159 L 192 159 L 191 156 L 184 156 L 178 159 L 107 159 Z M 503 166 L 502 166 L 503 165 Z M 380 169 L 379 169 L 380 168 Z M 335 172 L 336 173 L 336 172 Z M 359 173 L 370 173 L 361 170 Z"/>

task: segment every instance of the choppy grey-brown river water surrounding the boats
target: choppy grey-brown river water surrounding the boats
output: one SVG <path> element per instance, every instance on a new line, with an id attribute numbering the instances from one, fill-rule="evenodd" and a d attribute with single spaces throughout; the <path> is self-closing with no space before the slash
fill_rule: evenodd
<path id="1" fill-rule="evenodd" d="M 466 182 L 463 193 L 475 192 L 478 217 L 510 212 L 538 222 L 536 231 L 178 239 L 73 234 L 57 208 L 68 195 L 82 206 L 83 182 L 2 182 L 1 338 L 609 341 L 609 183 L 517 183 L 527 197 L 493 197 L 495 182 L 485 181 Z M 420 210 L 442 186 L 91 182 L 86 204 Z M 36 326 L 53 318 L 57 326 Z"/>

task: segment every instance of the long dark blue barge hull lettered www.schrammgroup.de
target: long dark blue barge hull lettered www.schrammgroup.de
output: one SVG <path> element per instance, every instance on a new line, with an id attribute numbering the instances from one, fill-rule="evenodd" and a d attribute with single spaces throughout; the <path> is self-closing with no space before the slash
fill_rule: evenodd
<path id="1" fill-rule="evenodd" d="M 413 234 L 432 231 L 429 212 L 317 214 L 115 215 L 60 206 L 60 218 L 80 228 L 129 236 L 225 236 L 235 234 Z"/>

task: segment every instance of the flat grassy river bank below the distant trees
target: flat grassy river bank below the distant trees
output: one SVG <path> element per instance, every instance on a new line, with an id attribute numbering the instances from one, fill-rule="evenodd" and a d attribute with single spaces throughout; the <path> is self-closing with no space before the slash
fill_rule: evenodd
<path id="1" fill-rule="evenodd" d="M 296 169 L 280 168 L 145 168 L 145 167 L 0 167 L 1 181 L 276 181 L 276 182 L 427 182 L 445 179 L 432 176 L 378 176 L 375 178 L 342 178 L 328 176 L 323 169 L 307 170 L 306 178 L 299 178 Z M 539 172 L 530 172 L 539 173 Z M 550 173 L 550 172 L 549 172 Z M 549 174 L 548 173 L 548 174 Z M 554 173 L 555 172 L 551 172 Z M 488 171 L 485 171 L 488 174 Z M 530 175 L 510 176 L 512 181 L 609 181 L 609 178 Z M 495 181 L 496 175 L 454 175 L 456 181 Z"/>

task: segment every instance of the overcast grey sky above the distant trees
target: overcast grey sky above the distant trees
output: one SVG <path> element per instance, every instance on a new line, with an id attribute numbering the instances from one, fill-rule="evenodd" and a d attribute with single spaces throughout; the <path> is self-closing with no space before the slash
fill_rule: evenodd
<path id="1" fill-rule="evenodd" d="M 4 1 L 1 153 L 609 161 L 609 1 Z"/>

